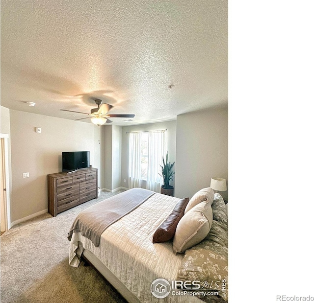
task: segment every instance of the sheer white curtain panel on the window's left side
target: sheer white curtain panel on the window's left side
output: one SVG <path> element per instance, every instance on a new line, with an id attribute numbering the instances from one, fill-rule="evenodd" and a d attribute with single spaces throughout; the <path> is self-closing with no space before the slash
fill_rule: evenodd
<path id="1" fill-rule="evenodd" d="M 129 188 L 142 187 L 141 133 L 130 133 L 129 139 Z"/>

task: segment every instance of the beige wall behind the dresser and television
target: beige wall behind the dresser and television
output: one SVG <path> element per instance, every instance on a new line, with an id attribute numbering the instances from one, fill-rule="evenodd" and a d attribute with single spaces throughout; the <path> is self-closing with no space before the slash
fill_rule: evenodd
<path id="1" fill-rule="evenodd" d="M 13 222 L 48 209 L 47 174 L 62 171 L 63 151 L 89 150 L 90 164 L 100 168 L 94 124 L 10 110 L 10 135 Z M 29 178 L 23 178 L 24 172 Z"/>

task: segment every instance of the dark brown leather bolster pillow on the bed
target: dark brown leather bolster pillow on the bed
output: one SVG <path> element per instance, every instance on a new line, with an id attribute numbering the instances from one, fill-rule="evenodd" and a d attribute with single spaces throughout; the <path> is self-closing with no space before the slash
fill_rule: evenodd
<path id="1" fill-rule="evenodd" d="M 178 201 L 169 217 L 157 228 L 154 233 L 153 243 L 166 242 L 173 238 L 177 225 L 183 217 L 188 200 L 189 198 L 184 198 Z"/>

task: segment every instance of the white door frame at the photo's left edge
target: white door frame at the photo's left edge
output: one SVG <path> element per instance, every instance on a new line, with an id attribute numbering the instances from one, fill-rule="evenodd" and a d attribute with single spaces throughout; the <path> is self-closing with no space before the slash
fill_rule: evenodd
<path id="1" fill-rule="evenodd" d="M 1 211 L 1 232 L 5 232 L 11 228 L 8 139 L 9 139 L 8 134 L 0 134 L 0 140 L 1 140 L 1 159 L 0 159 L 1 210 L 3 210 L 3 214 Z M 4 224 L 2 224 L 2 220 L 4 220 Z"/>

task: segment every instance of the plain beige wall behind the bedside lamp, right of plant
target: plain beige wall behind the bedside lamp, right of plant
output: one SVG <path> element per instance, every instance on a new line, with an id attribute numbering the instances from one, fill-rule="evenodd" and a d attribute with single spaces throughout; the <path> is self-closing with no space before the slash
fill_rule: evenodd
<path id="1" fill-rule="evenodd" d="M 228 108 L 177 116 L 176 151 L 176 197 L 191 198 L 212 177 L 228 186 Z M 228 191 L 220 193 L 228 200 Z"/>

